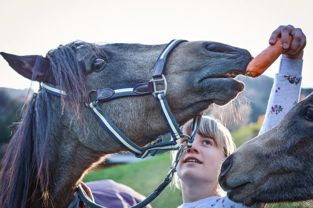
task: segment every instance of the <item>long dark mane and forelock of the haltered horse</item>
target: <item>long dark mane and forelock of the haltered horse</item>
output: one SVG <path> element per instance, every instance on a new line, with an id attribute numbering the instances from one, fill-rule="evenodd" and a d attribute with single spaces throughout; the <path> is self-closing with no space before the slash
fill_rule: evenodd
<path id="1" fill-rule="evenodd" d="M 56 85 L 68 94 L 69 99 L 61 98 L 63 106 L 75 112 L 77 117 L 81 115 L 84 102 L 88 101 L 85 68 L 76 58 L 76 50 L 80 47 L 86 47 L 86 56 L 103 55 L 97 45 L 81 41 L 59 46 L 46 54 L 50 60 L 50 69 L 46 70 L 52 71 Z M 38 56 L 33 76 L 38 73 L 41 62 L 42 57 Z M 38 94 L 34 93 L 22 121 L 13 131 L 0 167 L 1 207 L 25 207 L 36 192 L 43 194 L 44 201 L 49 198 L 49 140 L 52 115 L 56 113 L 52 97 L 41 89 Z"/>

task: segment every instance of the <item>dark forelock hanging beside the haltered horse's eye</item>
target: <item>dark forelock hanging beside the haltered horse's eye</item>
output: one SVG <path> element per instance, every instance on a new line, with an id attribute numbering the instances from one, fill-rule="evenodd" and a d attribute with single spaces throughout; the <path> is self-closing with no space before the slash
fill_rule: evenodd
<path id="1" fill-rule="evenodd" d="M 50 70 L 56 85 L 67 94 L 67 98 L 61 97 L 63 105 L 74 113 L 77 119 L 82 119 L 84 103 L 89 103 L 90 99 L 85 85 L 86 70 L 77 58 L 79 50 L 83 61 L 90 60 L 91 57 L 106 57 L 99 45 L 83 41 L 60 45 L 47 52 L 46 57 L 50 60 Z M 35 64 L 34 74 L 39 67 L 40 64 Z"/>

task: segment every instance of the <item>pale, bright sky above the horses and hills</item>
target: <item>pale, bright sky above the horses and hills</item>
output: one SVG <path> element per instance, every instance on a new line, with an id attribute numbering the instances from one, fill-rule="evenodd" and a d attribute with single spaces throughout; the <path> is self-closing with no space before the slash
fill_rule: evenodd
<path id="1" fill-rule="evenodd" d="M 279 26 L 307 37 L 302 87 L 313 87 L 313 14 L 309 0 L 1 0 L 0 51 L 41 54 L 74 40 L 163 44 L 172 39 L 216 41 L 249 50 L 268 46 Z M 276 61 L 264 74 L 274 77 Z M 0 57 L 0 87 L 24 89 L 30 81 Z M 37 91 L 38 83 L 32 88 Z"/>

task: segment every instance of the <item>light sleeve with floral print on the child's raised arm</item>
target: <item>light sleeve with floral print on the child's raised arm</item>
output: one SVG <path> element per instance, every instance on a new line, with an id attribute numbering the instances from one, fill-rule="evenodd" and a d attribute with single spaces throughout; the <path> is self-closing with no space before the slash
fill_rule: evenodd
<path id="1" fill-rule="evenodd" d="M 266 114 L 259 135 L 278 124 L 298 103 L 302 80 L 303 60 L 280 58 L 279 71 L 269 95 Z"/>

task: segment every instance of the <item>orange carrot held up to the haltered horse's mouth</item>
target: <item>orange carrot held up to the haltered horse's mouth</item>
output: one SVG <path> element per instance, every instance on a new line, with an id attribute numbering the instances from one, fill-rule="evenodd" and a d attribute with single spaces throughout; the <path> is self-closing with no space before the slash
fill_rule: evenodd
<path id="1" fill-rule="evenodd" d="M 292 36 L 289 36 L 289 43 L 291 44 Z M 281 38 L 278 38 L 274 45 L 269 45 L 264 51 L 257 55 L 248 64 L 246 75 L 248 77 L 259 77 L 266 69 L 272 65 L 278 57 L 285 51 Z"/>

